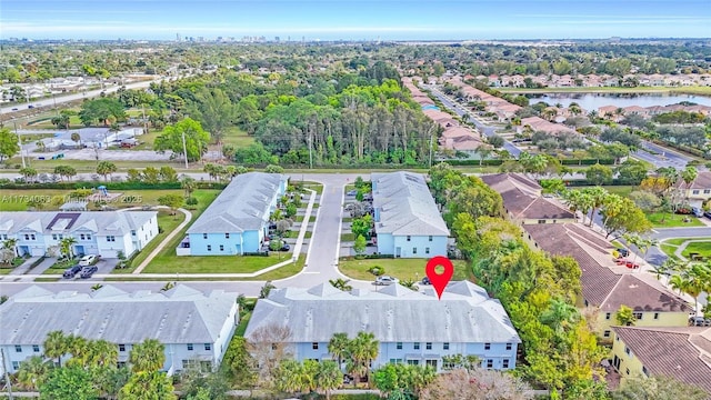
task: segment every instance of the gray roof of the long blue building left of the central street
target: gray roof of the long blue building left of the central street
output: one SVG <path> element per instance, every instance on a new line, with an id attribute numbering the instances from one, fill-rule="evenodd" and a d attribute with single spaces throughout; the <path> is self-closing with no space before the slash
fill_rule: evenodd
<path id="1" fill-rule="evenodd" d="M 261 229 L 269 219 L 269 206 L 287 180 L 279 173 L 248 172 L 234 177 L 188 233 L 229 233 Z"/>

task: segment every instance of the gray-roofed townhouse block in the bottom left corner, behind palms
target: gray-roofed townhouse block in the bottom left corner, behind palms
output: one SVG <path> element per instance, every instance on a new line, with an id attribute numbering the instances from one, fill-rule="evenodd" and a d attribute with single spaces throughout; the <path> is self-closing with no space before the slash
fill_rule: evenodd
<path id="1" fill-rule="evenodd" d="M 172 374 L 196 364 L 212 370 L 222 361 L 239 323 L 238 293 L 201 292 L 178 284 L 164 292 L 126 292 L 106 284 L 91 293 L 30 287 L 0 306 L 4 371 L 43 353 L 51 331 L 114 343 L 119 364 L 146 339 L 166 347 L 162 370 Z M 63 357 L 66 360 L 68 357 Z"/>

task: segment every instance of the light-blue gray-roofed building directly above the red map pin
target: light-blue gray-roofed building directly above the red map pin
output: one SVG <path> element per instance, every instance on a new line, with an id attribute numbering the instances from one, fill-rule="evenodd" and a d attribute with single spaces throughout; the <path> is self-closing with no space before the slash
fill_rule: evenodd
<path id="1" fill-rule="evenodd" d="M 449 229 L 422 174 L 372 173 L 371 181 L 379 253 L 395 258 L 447 256 Z"/>

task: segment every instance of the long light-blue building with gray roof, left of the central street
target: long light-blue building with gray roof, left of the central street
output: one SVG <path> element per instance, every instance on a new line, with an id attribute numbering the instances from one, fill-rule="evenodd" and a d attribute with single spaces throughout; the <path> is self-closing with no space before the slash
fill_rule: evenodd
<path id="1" fill-rule="evenodd" d="M 260 251 L 287 177 L 248 172 L 232 179 L 188 229 L 178 256 L 241 256 Z"/>

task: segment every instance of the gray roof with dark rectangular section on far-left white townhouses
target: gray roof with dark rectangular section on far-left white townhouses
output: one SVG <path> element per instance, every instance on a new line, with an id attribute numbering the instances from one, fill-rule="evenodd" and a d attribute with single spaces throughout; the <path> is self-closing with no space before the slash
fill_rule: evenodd
<path id="1" fill-rule="evenodd" d="M 88 229 L 96 234 L 127 234 L 142 227 L 156 211 L 6 211 L 0 212 L 0 232 L 14 234 L 30 228 L 44 234 Z"/>

